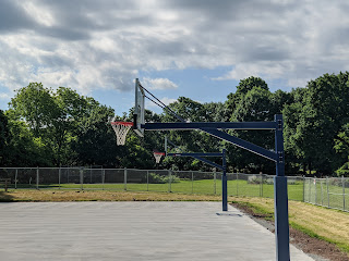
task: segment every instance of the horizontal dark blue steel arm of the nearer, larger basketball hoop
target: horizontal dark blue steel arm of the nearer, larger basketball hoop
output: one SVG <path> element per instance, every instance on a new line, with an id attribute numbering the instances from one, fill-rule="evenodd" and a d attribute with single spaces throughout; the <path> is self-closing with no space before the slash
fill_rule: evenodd
<path id="1" fill-rule="evenodd" d="M 165 130 L 165 129 L 276 129 L 276 122 L 178 122 L 178 123 L 145 123 L 142 124 L 145 130 Z"/>

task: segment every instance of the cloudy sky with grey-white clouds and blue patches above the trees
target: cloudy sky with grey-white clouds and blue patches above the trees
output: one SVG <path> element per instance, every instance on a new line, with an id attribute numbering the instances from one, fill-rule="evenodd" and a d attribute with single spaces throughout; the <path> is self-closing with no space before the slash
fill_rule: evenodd
<path id="1" fill-rule="evenodd" d="M 251 75 L 303 87 L 349 71 L 348 13 L 347 0 L 0 0 L 0 109 L 31 82 L 119 115 L 135 77 L 165 102 L 225 101 Z"/>

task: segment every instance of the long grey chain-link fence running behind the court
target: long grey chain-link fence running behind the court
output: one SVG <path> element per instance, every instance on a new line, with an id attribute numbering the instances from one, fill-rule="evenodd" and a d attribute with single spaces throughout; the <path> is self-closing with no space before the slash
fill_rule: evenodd
<path id="1" fill-rule="evenodd" d="M 106 189 L 221 195 L 220 172 L 91 169 L 0 167 L 0 187 L 9 189 Z M 274 198 L 274 176 L 228 173 L 228 195 Z M 288 198 L 349 211 L 349 179 L 288 176 Z"/>

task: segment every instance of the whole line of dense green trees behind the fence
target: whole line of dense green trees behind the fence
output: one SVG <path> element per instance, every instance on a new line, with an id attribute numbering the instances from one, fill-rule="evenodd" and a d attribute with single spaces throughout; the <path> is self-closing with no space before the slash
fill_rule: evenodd
<path id="1" fill-rule="evenodd" d="M 305 87 L 272 92 L 260 77 L 240 80 L 224 102 L 200 103 L 180 97 L 169 108 L 191 122 L 274 121 L 284 114 L 286 173 L 288 175 L 349 176 L 349 73 L 324 74 Z M 116 145 L 110 119 L 115 111 L 92 97 L 59 87 L 31 83 L 19 89 L 0 110 L 0 166 L 81 166 L 202 170 L 212 167 L 189 158 L 155 163 L 153 150 L 164 151 L 168 139 L 184 152 L 227 149 L 229 171 L 275 173 L 275 164 L 203 132 L 147 132 L 140 138 L 129 132 L 124 146 Z M 133 108 L 116 116 L 132 121 Z M 146 110 L 146 121 L 174 122 L 164 111 Z M 272 130 L 226 130 L 274 150 Z M 215 160 L 217 163 L 221 159 Z"/>

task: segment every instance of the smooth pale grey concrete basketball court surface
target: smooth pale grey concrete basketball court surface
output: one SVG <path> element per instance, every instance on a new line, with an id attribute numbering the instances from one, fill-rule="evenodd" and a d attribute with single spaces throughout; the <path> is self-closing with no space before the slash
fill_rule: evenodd
<path id="1" fill-rule="evenodd" d="M 7 261 L 276 259 L 274 234 L 220 202 L 0 203 L 0 221 Z"/>

